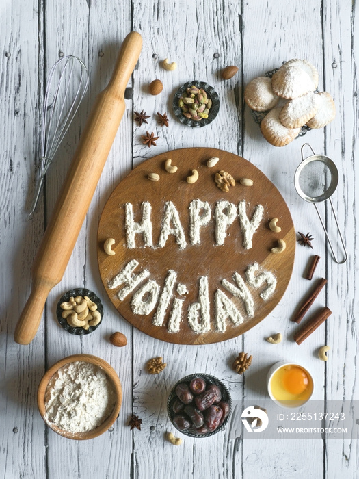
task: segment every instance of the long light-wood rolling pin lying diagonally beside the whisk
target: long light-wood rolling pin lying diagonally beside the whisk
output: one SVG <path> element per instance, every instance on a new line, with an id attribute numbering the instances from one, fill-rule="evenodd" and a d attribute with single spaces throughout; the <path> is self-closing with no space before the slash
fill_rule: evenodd
<path id="1" fill-rule="evenodd" d="M 124 114 L 124 89 L 141 49 L 141 35 L 135 31 L 127 35 L 111 80 L 98 95 L 81 135 L 34 261 L 31 294 L 15 329 L 14 338 L 19 344 L 29 344 L 34 339 L 46 298 L 64 275 Z"/>

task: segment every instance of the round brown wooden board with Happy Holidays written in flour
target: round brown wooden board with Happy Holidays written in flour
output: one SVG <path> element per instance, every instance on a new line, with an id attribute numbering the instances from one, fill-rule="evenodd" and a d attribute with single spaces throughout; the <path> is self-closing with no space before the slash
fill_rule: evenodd
<path id="1" fill-rule="evenodd" d="M 213 168 L 207 166 L 207 160 L 211 157 L 220 158 Z M 165 170 L 165 160 L 168 158 L 172 159 L 172 165 L 178 166 L 174 174 Z M 186 179 L 194 169 L 198 170 L 198 181 L 189 184 Z M 231 186 L 229 192 L 222 192 L 215 184 L 215 173 L 219 170 L 229 172 L 236 180 L 235 186 Z M 150 181 L 148 179 L 150 173 L 159 174 L 159 181 Z M 241 185 L 239 180 L 243 177 L 252 179 L 253 185 L 251 187 Z M 209 203 L 211 218 L 207 224 L 200 227 L 200 244 L 192 244 L 189 235 L 189 205 L 191 201 L 198 199 Z M 252 248 L 248 249 L 243 246 L 243 232 L 238 216 L 238 205 L 242 200 L 245 200 L 248 220 L 252 219 L 257 205 L 264 208 L 263 218 L 253 235 Z M 232 203 L 236 211 L 235 220 L 226 229 L 223 244 L 217 244 L 216 241 L 215 205 L 220 201 Z M 136 233 L 134 247 L 130 248 L 125 229 L 125 205 L 131 203 L 133 221 L 139 224 L 142 222 L 144 202 L 151 205 L 153 246 L 146 246 L 143 233 Z M 173 204 L 178 211 L 179 227 L 182 227 L 185 234 L 185 246 L 182 245 L 182 249 L 176 242 L 177 233 L 173 232 L 165 238 L 164 246 L 159 245 L 161 229 L 165 222 L 163 215 L 169 204 Z M 225 213 L 226 211 L 228 210 L 224 209 Z M 282 229 L 280 233 L 274 233 L 269 229 L 271 218 L 278 218 L 278 226 Z M 174 231 L 173 222 L 170 222 L 170 229 Z M 115 255 L 105 253 L 104 242 L 108 238 L 115 240 L 112 246 Z M 271 248 L 278 246 L 278 239 L 284 239 L 287 248 L 279 254 L 271 253 Z M 109 298 L 119 313 L 140 331 L 177 344 L 210 344 L 225 341 L 243 334 L 261 322 L 278 304 L 287 288 L 294 255 L 295 230 L 291 214 L 280 192 L 265 174 L 249 161 L 214 148 L 183 148 L 144 161 L 112 192 L 98 226 L 98 265 L 101 278 Z M 129 264 L 133 260 L 135 262 Z M 254 263 L 258 263 L 255 270 L 257 276 L 263 272 L 270 272 L 276 279 L 274 293 L 267 300 L 260 296 L 269 285 L 267 281 L 257 281 L 256 287 L 248 283 L 245 272 L 248 266 Z M 124 279 L 122 273 L 126 267 L 131 271 L 127 279 Z M 171 287 L 168 280 L 170 271 L 176 276 Z M 145 274 L 138 276 L 141 272 L 145 272 L 146 277 Z M 252 297 L 254 305 L 252 317 L 248 315 L 248 308 L 241 296 L 233 296 L 228 291 L 226 281 L 231 283 L 232 287 L 238 288 L 235 273 L 241 276 L 243 279 L 241 284 L 245 283 L 245 290 Z M 118 274 L 120 280 L 116 285 L 114 279 Z M 222 280 L 226 280 L 224 283 L 227 287 Z M 154 281 L 157 285 L 153 283 Z M 152 293 L 147 291 L 150 285 Z M 203 285 L 208 285 L 206 304 L 208 305 L 209 301 L 210 324 L 208 328 L 207 323 L 207 332 L 195 333 L 189 325 L 187 312 L 189 309 L 192 312 L 197 311 L 196 320 L 198 324 L 203 324 L 202 313 L 205 316 L 205 307 L 203 302 L 199 303 L 198 298 L 199 288 L 204 292 L 206 290 Z M 121 300 L 118 298 L 119 293 Z M 223 298 L 223 294 L 235 305 L 242 322 L 240 324 L 237 322 L 236 325 L 228 315 L 224 326 L 222 322 L 222 331 L 218 331 L 220 307 L 217 311 L 215 304 L 217 298 L 220 296 Z M 133 313 L 133 304 L 131 305 L 134 295 L 137 300 L 139 298 L 142 300 L 141 304 L 144 306 L 144 309 L 135 307 L 137 313 Z M 180 304 L 182 306 L 181 322 L 178 332 L 171 333 L 168 331 L 168 324 L 172 310 L 176 310 L 175 301 L 177 307 Z M 218 301 L 218 304 L 222 303 Z M 159 317 L 159 309 L 164 311 L 163 322 L 161 326 L 156 326 L 153 321 Z"/>

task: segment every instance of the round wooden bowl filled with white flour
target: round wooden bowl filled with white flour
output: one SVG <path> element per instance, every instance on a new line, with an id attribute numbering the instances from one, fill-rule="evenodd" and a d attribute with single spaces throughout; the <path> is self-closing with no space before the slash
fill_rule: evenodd
<path id="1" fill-rule="evenodd" d="M 55 363 L 38 387 L 44 422 L 68 439 L 93 439 L 116 421 L 122 404 L 120 378 L 106 361 L 74 354 Z"/>

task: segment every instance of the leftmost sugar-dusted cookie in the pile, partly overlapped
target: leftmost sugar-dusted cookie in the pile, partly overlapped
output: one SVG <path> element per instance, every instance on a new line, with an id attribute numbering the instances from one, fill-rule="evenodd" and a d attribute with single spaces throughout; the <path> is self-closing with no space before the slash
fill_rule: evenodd
<path id="1" fill-rule="evenodd" d="M 271 79 L 256 77 L 248 83 L 244 90 L 244 101 L 256 112 L 266 112 L 278 103 L 279 96 L 271 88 Z"/>

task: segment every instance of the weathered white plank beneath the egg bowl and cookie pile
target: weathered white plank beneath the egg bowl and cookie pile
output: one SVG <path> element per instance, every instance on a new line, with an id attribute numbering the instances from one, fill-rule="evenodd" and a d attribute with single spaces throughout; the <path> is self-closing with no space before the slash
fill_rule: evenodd
<path id="1" fill-rule="evenodd" d="M 261 8 L 259 1 L 245 3 L 243 8 L 243 87 L 254 77 L 278 68 L 283 61 L 291 58 L 303 58 L 317 66 L 319 70 L 319 88 L 323 85 L 322 40 L 321 40 L 321 3 L 308 5 L 300 1 L 291 2 L 290 8 L 284 3 L 267 4 Z M 310 47 L 308 36 L 310 31 Z M 245 107 L 245 134 L 243 139 L 243 156 L 253 161 L 267 174 L 278 187 L 287 205 L 291 209 L 293 222 L 297 231 L 309 230 L 315 237 L 315 253 L 322 255 L 323 240 L 317 230 L 317 220 L 313 205 L 305 203 L 297 196 L 293 177 L 300 164 L 300 148 L 310 142 L 317 151 L 323 149 L 323 130 L 310 131 L 304 138 L 294 140 L 284 148 L 268 144 L 261 135 L 258 125 Z M 314 228 L 314 231 L 313 231 Z M 297 305 L 306 296 L 311 287 L 304 279 L 304 269 L 312 254 L 309 248 L 297 246 L 295 266 L 291 282 L 280 304 L 268 318 L 244 335 L 244 351 L 253 355 L 252 366 L 245 375 L 244 399 L 246 404 L 259 404 L 268 400 L 266 374 L 269 367 L 282 359 L 302 363 L 313 372 L 315 378 L 315 399 L 323 398 L 324 378 L 318 360 L 311 353 L 325 336 L 324 328 L 318 330 L 306 344 L 297 346 L 293 342 L 293 332 L 297 328 L 290 319 Z M 322 259 L 319 272 L 325 274 L 325 261 Z M 322 294 L 316 303 L 325 305 Z M 273 333 L 282 333 L 281 344 L 273 345 L 265 337 Z M 276 420 L 269 417 L 269 421 Z M 258 435 L 259 436 L 259 435 Z M 296 441 L 295 441 L 296 442 Z M 323 475 L 323 443 L 321 441 L 302 441 L 301 453 L 291 441 L 243 441 L 243 455 L 236 463 L 237 474 L 243 471 L 243 478 L 264 476 L 265 478 L 300 478 L 307 471 L 307 465 L 315 477 Z"/>

